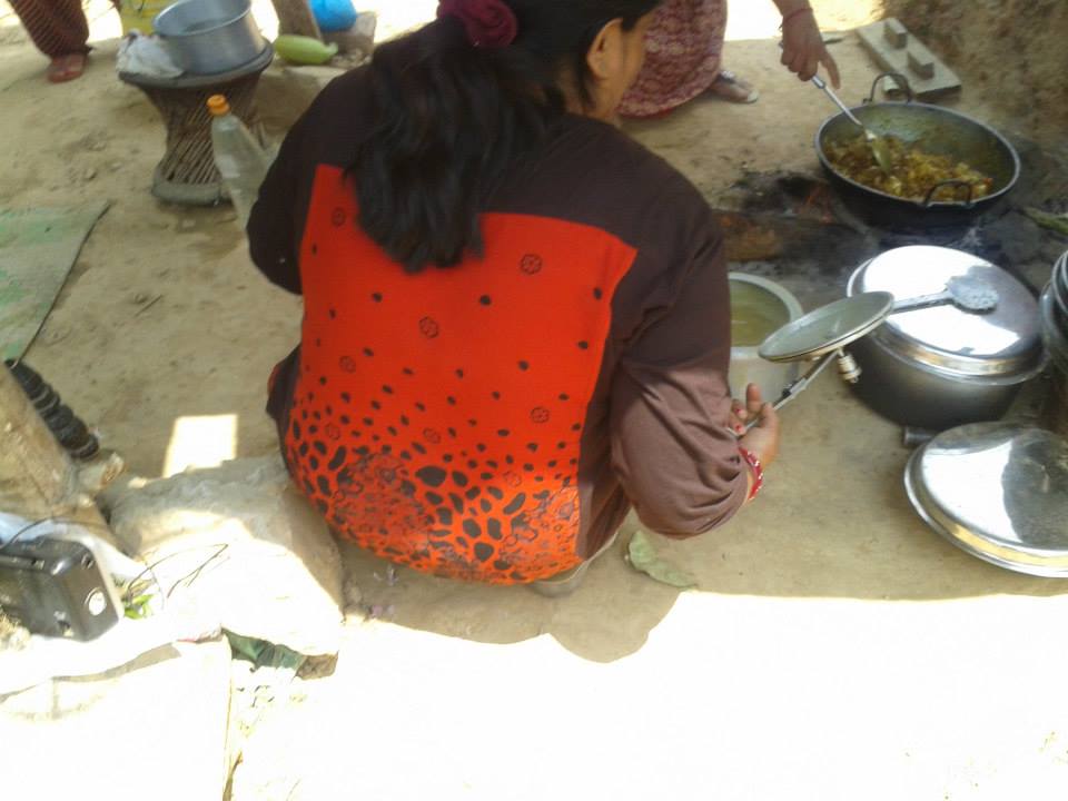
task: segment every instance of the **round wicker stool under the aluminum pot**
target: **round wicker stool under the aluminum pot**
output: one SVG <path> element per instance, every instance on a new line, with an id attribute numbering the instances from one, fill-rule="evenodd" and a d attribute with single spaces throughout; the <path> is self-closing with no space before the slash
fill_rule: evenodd
<path id="1" fill-rule="evenodd" d="M 207 101 L 225 95 L 230 110 L 265 144 L 255 108 L 259 76 L 274 58 L 263 53 L 229 72 L 178 78 L 149 78 L 120 72 L 119 79 L 144 91 L 164 118 L 167 150 L 152 175 L 152 195 L 184 206 L 214 206 L 226 199 L 222 177 L 211 156 L 211 116 Z"/>

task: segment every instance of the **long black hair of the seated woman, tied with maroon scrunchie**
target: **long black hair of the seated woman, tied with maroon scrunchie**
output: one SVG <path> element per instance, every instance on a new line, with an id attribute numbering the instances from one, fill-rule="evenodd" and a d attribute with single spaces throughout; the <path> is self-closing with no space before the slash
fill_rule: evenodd
<path id="1" fill-rule="evenodd" d="M 659 0 L 507 0 L 504 48 L 475 47 L 443 17 L 377 48 L 367 67 L 373 125 L 348 168 L 359 225 L 411 273 L 482 254 L 478 214 L 507 167 L 565 113 L 560 80 L 589 105 L 586 55 L 612 20 L 624 30 Z"/>

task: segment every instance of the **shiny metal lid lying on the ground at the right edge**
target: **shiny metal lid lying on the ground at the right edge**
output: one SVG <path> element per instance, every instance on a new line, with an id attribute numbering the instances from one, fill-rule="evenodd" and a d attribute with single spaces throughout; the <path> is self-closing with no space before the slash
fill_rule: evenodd
<path id="1" fill-rule="evenodd" d="M 977 423 L 909 461 L 913 507 L 955 545 L 1020 573 L 1068 577 L 1068 441 L 1042 428 Z"/>

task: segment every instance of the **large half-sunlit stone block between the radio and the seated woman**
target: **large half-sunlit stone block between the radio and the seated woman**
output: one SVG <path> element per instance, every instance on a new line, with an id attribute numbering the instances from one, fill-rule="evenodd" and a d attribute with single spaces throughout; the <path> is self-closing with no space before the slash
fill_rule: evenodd
<path id="1" fill-rule="evenodd" d="M 307 655 L 337 652 L 342 565 L 279 457 L 236 459 L 106 496 L 116 536 L 169 602 Z"/>

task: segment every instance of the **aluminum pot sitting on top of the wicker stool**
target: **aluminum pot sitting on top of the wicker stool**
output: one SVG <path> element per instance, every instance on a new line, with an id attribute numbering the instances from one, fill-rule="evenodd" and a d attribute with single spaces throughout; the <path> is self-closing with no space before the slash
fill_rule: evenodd
<path id="1" fill-rule="evenodd" d="M 218 75 L 254 61 L 267 47 L 250 0 L 180 0 L 152 20 L 186 72 Z"/>

